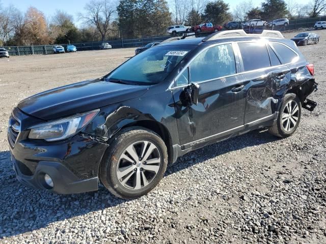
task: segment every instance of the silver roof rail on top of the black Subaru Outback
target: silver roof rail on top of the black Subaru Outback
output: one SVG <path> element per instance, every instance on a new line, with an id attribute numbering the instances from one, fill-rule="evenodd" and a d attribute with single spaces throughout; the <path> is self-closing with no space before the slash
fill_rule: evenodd
<path id="1" fill-rule="evenodd" d="M 208 37 L 203 39 L 203 42 L 206 41 L 212 41 L 220 38 L 228 38 L 228 37 L 271 37 L 271 38 L 284 38 L 282 33 L 279 31 L 269 31 L 267 29 L 264 29 L 261 34 L 248 34 L 243 29 L 232 29 L 231 31 L 222 31 L 222 32 L 216 32 Z"/>

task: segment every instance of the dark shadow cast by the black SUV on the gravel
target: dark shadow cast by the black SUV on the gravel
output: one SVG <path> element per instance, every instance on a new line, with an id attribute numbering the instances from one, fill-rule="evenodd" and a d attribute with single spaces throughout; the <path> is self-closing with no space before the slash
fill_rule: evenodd
<path id="1" fill-rule="evenodd" d="M 258 130 L 215 143 L 179 158 L 168 167 L 166 176 L 230 151 L 275 140 L 277 138 L 269 135 L 266 130 Z M 128 201 L 113 196 L 104 187 L 99 187 L 97 192 L 72 195 L 56 195 L 24 187 L 15 177 L 9 151 L 0 152 L 0 194 L 0 239 Z M 96 221 L 101 221 L 100 217 Z"/>

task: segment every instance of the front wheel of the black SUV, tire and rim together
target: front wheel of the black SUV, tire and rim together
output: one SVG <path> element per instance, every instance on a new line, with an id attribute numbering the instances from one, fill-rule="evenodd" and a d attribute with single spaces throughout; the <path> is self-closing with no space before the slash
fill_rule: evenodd
<path id="1" fill-rule="evenodd" d="M 168 164 L 164 141 L 142 127 L 124 129 L 112 140 L 99 177 L 114 195 L 124 199 L 141 197 L 162 179 Z"/>

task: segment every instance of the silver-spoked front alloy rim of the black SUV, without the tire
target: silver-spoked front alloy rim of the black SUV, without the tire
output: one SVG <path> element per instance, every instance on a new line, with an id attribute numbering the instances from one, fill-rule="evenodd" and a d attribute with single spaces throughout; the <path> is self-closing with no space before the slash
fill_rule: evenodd
<path id="1" fill-rule="evenodd" d="M 129 145 L 120 156 L 117 178 L 128 190 L 140 190 L 156 177 L 161 165 L 157 146 L 150 141 Z"/>

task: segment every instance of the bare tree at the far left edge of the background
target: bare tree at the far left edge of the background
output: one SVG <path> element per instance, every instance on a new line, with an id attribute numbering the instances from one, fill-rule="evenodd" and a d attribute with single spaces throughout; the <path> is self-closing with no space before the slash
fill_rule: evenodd
<path id="1" fill-rule="evenodd" d="M 14 6 L 0 10 L 0 42 L 10 39 L 22 25 L 23 16 Z"/>

